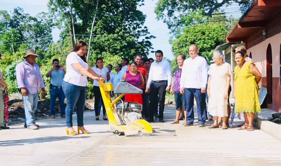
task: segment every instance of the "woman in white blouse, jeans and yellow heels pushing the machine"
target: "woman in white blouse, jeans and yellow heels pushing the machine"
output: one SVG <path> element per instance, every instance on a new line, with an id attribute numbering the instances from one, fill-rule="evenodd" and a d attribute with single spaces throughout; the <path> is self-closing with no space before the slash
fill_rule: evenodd
<path id="1" fill-rule="evenodd" d="M 62 89 L 66 97 L 66 134 L 77 135 L 81 131 L 88 134 L 83 124 L 84 105 L 86 100 L 86 87 L 88 85 L 87 77 L 91 79 L 104 79 L 97 75 L 91 68 L 85 58 L 87 44 L 83 40 L 75 43 L 72 51 L 66 58 L 66 74 L 62 83 Z M 72 114 L 76 106 L 77 130 L 73 129 Z"/>

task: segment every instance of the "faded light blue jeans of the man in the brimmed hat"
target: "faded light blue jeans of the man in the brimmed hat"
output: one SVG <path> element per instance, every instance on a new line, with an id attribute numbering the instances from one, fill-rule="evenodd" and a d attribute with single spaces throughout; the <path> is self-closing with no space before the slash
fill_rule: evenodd
<path id="1" fill-rule="evenodd" d="M 38 103 L 38 94 L 23 96 L 25 124 L 27 127 L 35 125 L 35 111 Z"/>

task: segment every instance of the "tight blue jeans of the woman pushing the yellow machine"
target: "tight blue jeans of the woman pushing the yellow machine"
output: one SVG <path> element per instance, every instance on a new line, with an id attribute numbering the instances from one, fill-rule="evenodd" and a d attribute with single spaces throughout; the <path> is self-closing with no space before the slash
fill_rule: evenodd
<path id="1" fill-rule="evenodd" d="M 66 97 L 65 119 L 66 127 L 72 127 L 72 114 L 76 106 L 77 126 L 82 127 L 84 105 L 86 101 L 86 87 L 77 86 L 68 82 L 62 82 L 62 89 Z"/>

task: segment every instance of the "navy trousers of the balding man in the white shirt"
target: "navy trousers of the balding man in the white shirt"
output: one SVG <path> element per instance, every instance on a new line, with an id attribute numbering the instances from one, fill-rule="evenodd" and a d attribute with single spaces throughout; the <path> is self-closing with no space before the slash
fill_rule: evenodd
<path id="1" fill-rule="evenodd" d="M 205 124 L 207 115 L 205 94 L 201 94 L 201 89 L 184 88 L 184 96 L 186 99 L 186 124 L 193 124 L 194 121 L 194 97 L 197 103 L 198 124 Z"/>

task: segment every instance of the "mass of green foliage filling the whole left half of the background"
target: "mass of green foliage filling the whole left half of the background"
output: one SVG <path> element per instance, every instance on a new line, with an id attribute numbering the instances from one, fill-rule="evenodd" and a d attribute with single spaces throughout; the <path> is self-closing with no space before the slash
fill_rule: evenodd
<path id="1" fill-rule="evenodd" d="M 53 43 L 52 28 L 59 27 L 61 34 L 68 34 L 67 25 L 72 23 L 72 10 L 76 39 L 83 39 L 88 43 L 96 2 L 50 0 L 49 13 L 38 13 L 36 17 L 24 13 L 22 8 L 15 8 L 10 13 L 0 11 L 0 70 L 6 78 L 9 93 L 18 92 L 15 67 L 24 60 L 25 51 L 33 48 L 35 39 L 35 51 L 40 56 L 36 63 L 40 66 L 46 86 L 46 98 L 49 98 L 50 78 L 45 75 L 52 68 L 54 58 L 59 59 L 60 65 L 66 67 L 66 57 L 74 44 L 70 43 L 69 35 L 61 35 L 61 39 Z M 149 54 L 149 50 L 153 49 L 149 40 L 155 37 L 143 26 L 146 16 L 137 9 L 143 5 L 142 2 L 143 0 L 99 1 L 88 64 L 95 63 L 97 57 L 102 57 L 104 66 L 112 64 L 115 67 L 120 63 L 121 57 L 133 60 L 136 53 L 141 53 L 144 57 Z M 90 81 L 87 98 L 93 98 Z"/>

